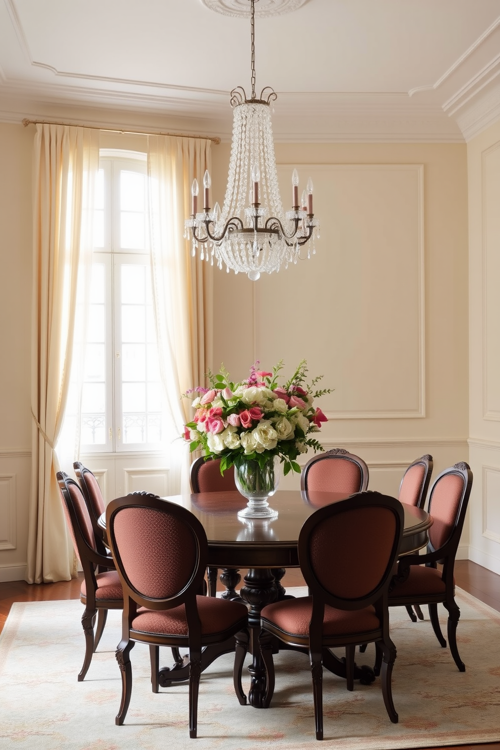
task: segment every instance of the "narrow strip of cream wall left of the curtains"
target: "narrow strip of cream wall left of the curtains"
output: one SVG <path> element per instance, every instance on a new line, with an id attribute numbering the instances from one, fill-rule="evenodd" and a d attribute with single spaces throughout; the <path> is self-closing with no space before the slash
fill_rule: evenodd
<path id="1" fill-rule="evenodd" d="M 31 147 L 0 124 L 0 580 L 24 577 L 31 456 Z"/>

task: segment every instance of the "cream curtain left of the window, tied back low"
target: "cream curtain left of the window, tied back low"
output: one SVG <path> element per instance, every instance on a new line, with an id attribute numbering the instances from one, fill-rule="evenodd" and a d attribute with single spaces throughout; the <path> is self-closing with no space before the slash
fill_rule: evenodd
<path id="1" fill-rule="evenodd" d="M 28 583 L 69 580 L 68 541 L 54 446 L 70 384 L 77 299 L 91 270 L 91 214 L 99 131 L 37 124 L 33 163 L 31 492 Z M 78 295 L 77 295 L 78 290 Z"/>

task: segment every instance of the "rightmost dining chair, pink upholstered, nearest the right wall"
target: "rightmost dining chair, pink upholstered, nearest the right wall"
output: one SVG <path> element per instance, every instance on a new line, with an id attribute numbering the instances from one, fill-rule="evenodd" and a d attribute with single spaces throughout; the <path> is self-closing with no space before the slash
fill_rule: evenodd
<path id="1" fill-rule="evenodd" d="M 389 606 L 427 604 L 430 622 L 443 648 L 446 640 L 439 625 L 438 604 L 448 610 L 448 642 L 451 655 L 460 672 L 466 666 L 457 648 L 457 625 L 460 607 L 455 601 L 455 556 L 462 535 L 463 522 L 472 489 L 472 471 L 468 463 L 455 463 L 436 477 L 430 490 L 427 553 L 402 556 L 394 586 L 389 592 Z M 438 568 L 442 564 L 442 569 Z"/>

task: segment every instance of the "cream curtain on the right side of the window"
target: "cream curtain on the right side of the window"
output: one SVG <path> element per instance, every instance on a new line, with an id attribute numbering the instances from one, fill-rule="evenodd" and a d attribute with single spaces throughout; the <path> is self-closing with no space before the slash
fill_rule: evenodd
<path id="1" fill-rule="evenodd" d="M 210 263 L 191 257 L 184 220 L 191 212 L 193 178 L 211 169 L 208 139 L 148 136 L 151 196 L 151 275 L 160 370 L 172 415 L 171 491 L 185 490 L 190 455 L 181 439 L 191 419 L 181 394 L 205 383 L 212 340 Z"/>

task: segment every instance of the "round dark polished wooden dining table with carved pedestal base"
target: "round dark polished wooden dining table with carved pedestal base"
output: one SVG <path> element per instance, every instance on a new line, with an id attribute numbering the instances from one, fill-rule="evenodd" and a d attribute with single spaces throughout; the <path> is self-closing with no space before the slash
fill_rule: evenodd
<path id="1" fill-rule="evenodd" d="M 287 596 L 281 578 L 286 568 L 299 567 L 297 544 L 304 520 L 323 505 L 347 496 L 338 492 L 279 490 L 269 499 L 271 507 L 278 511 L 277 517 L 272 520 L 239 518 L 238 510 L 244 508 L 247 501 L 236 491 L 164 498 L 183 505 L 196 515 L 208 538 L 208 565 L 223 571 L 221 580 L 226 585 L 223 597 L 238 598 L 249 607 L 253 661 L 248 667 L 251 682 L 248 700 L 252 706 L 262 707 L 265 695 L 266 675 L 258 643 L 262 607 Z M 432 518 L 426 511 L 402 504 L 405 520 L 400 555 L 425 547 L 427 530 L 432 524 Z M 100 517 L 100 525 L 106 527 L 105 514 Z M 236 592 L 235 586 L 240 580 L 238 569 L 247 572 L 241 589 Z M 280 648 L 283 648 L 283 644 L 280 644 Z M 210 662 L 204 663 L 202 659 L 203 669 L 216 658 L 216 655 L 212 655 Z M 343 661 L 328 650 L 324 653 L 323 664 L 339 676 L 346 674 Z M 159 677 L 163 686 L 187 679 L 187 660 L 172 667 L 163 667 Z M 355 679 L 373 682 L 375 675 L 370 667 L 355 667 Z"/>

